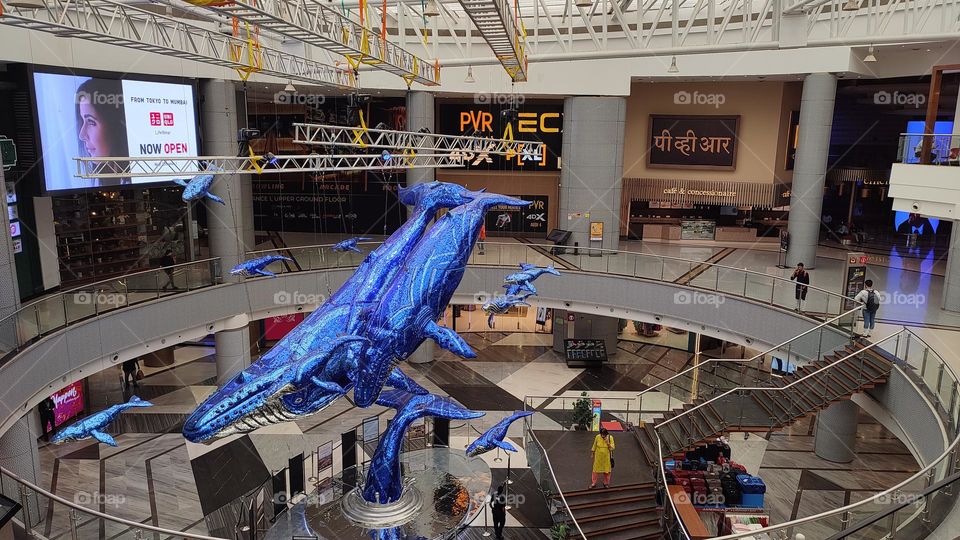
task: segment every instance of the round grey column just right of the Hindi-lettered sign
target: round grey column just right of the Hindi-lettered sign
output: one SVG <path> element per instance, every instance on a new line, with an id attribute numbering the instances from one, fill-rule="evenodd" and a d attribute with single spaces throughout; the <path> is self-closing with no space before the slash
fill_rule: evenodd
<path id="1" fill-rule="evenodd" d="M 787 264 L 790 266 L 803 263 L 813 268 L 817 264 L 820 211 L 836 95 L 837 78 L 831 73 L 811 73 L 803 81 L 800 133 L 787 223 L 790 233 Z"/>

